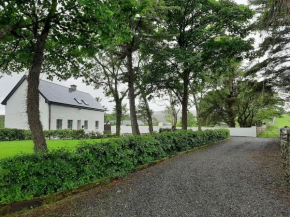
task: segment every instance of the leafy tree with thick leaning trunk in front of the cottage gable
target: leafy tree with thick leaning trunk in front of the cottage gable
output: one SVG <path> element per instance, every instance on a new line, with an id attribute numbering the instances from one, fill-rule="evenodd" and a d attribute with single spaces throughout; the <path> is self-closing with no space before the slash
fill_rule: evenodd
<path id="1" fill-rule="evenodd" d="M 92 38 L 101 23 L 112 20 L 104 1 L 4 0 L 0 2 L 0 69 L 28 71 L 27 115 L 35 151 L 47 150 L 39 118 L 39 77 L 77 76 L 87 63 L 82 58 L 95 46 Z M 99 25 L 98 25 L 99 24 Z M 92 29 L 94 27 L 94 29 Z"/>

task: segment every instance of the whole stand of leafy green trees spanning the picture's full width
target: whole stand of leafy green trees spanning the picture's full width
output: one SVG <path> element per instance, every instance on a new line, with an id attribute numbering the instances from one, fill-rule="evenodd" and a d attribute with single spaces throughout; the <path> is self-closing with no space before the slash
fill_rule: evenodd
<path id="1" fill-rule="evenodd" d="M 287 0 L 251 0 L 255 26 L 267 31 L 248 74 L 237 66 L 250 55 L 254 12 L 231 0 L 4 0 L 0 2 L 0 72 L 27 72 L 27 114 L 35 150 L 46 150 L 39 117 L 39 77 L 83 77 L 115 102 L 117 135 L 128 96 L 132 133 L 137 116 L 153 133 L 153 96 L 168 95 L 173 128 L 224 122 L 260 124 L 281 113 L 265 84 L 290 89 L 290 9 Z M 137 98 L 139 97 L 139 98 Z M 136 99 L 139 99 L 137 108 Z M 197 117 L 189 113 L 195 105 Z M 109 117 L 107 115 L 107 117 Z M 112 117 L 110 117 L 112 118 Z"/>

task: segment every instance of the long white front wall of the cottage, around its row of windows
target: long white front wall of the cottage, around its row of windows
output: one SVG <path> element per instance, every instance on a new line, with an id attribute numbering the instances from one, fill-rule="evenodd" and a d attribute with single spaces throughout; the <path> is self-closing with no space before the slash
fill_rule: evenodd
<path id="1" fill-rule="evenodd" d="M 104 131 L 104 112 L 66 107 L 61 105 L 51 105 L 51 130 L 56 129 L 56 120 L 62 120 L 62 129 L 67 129 L 68 120 L 73 120 L 73 129 L 77 129 L 77 121 L 88 121 L 88 131 L 95 131 L 95 121 L 99 121 L 99 132 Z"/>

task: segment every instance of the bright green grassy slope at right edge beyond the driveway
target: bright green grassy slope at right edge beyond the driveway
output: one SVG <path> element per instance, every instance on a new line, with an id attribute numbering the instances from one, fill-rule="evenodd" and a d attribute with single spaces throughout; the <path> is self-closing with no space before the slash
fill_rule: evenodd
<path id="1" fill-rule="evenodd" d="M 281 118 L 276 119 L 276 123 L 274 125 L 268 126 L 266 131 L 261 133 L 259 137 L 271 137 L 275 138 L 279 136 L 279 127 L 290 127 L 290 115 L 283 115 Z"/>

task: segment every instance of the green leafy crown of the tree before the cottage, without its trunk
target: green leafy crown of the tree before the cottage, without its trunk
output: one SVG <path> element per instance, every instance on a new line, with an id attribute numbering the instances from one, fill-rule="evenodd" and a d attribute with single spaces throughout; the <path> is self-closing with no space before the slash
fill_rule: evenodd
<path id="1" fill-rule="evenodd" d="M 1 1 L 0 29 L 7 31 L 0 34 L 0 70 L 15 73 L 29 69 L 37 40 L 46 30 L 41 72 L 47 73 L 49 78 L 77 76 L 89 67 L 83 57 L 95 53 L 100 44 L 111 38 L 108 34 L 115 26 L 111 11 L 114 3 Z"/>

